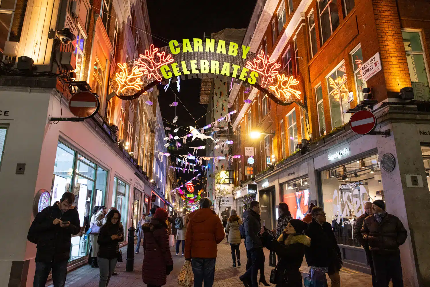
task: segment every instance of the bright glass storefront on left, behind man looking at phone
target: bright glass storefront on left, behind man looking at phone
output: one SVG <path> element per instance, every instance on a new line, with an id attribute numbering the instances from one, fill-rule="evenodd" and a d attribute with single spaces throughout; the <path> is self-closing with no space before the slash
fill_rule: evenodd
<path id="1" fill-rule="evenodd" d="M 96 205 L 104 203 L 107 184 L 107 171 L 81 154 L 58 142 L 52 179 L 51 203 L 60 201 L 64 192 L 73 192 L 74 205 L 77 206 L 80 225 Z M 88 236 L 73 236 L 70 261 L 86 256 Z"/>

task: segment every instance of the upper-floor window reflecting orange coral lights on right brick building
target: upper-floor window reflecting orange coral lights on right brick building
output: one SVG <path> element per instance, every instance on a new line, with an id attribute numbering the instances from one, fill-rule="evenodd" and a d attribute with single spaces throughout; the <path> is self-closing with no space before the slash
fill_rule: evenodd
<path id="1" fill-rule="evenodd" d="M 345 63 L 341 63 L 332 74 L 327 77 L 329 89 L 330 115 L 332 129 L 349 121 L 351 114 L 346 111 L 350 108 L 348 102 L 347 72 Z"/>

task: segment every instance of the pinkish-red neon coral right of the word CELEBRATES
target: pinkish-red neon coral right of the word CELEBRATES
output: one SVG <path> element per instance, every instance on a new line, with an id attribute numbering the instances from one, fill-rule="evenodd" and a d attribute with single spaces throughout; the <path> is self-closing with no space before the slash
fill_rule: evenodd
<path id="1" fill-rule="evenodd" d="M 251 62 L 246 62 L 246 68 L 251 71 L 255 71 L 258 74 L 261 74 L 261 87 L 265 88 L 267 83 L 273 83 L 273 79 L 279 73 L 278 69 L 281 65 L 276 64 L 275 60 L 270 60 L 269 56 L 264 55 L 264 51 L 261 51 L 260 54 L 257 55 Z"/>

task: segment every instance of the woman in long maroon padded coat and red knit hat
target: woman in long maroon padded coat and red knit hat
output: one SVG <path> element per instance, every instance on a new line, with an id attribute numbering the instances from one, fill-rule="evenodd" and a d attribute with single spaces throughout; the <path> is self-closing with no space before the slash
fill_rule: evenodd
<path id="1" fill-rule="evenodd" d="M 173 270 L 166 224 L 168 216 L 169 213 L 164 208 L 158 208 L 151 222 L 146 222 L 142 226 L 144 232 L 142 279 L 148 287 L 165 285 L 167 275 Z"/>

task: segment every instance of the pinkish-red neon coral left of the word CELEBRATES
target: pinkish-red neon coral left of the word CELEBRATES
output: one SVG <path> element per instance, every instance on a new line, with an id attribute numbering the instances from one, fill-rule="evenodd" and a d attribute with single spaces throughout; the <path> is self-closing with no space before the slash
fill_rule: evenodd
<path id="1" fill-rule="evenodd" d="M 160 67 L 172 63 L 172 55 L 166 56 L 166 52 L 158 52 L 158 48 L 154 48 L 154 44 L 151 44 L 150 50 L 145 51 L 145 55 L 140 54 L 139 59 L 135 60 L 134 63 L 143 74 L 147 75 L 148 79 L 154 77 L 155 80 L 161 82 L 162 77 L 160 75 Z"/>

